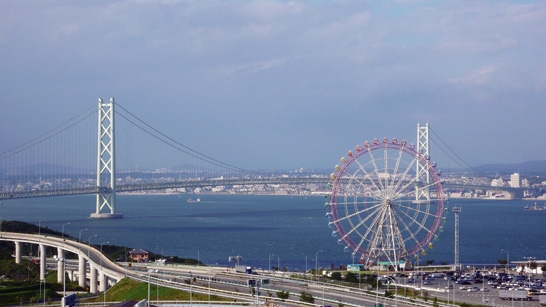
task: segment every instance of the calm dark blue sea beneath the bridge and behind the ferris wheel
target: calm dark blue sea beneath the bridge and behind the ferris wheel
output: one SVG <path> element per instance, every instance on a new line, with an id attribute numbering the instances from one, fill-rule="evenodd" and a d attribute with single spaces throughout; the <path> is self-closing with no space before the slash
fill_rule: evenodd
<path id="1" fill-rule="evenodd" d="M 188 198 L 200 202 L 187 202 Z M 207 265 L 239 265 L 291 271 L 358 262 L 332 237 L 323 196 L 238 194 L 117 195 L 122 219 L 91 219 L 95 196 L 4 200 L 0 219 L 62 231 L 94 245 L 141 248 L 154 254 L 194 258 Z M 460 207 L 459 262 L 499 265 L 498 260 L 546 260 L 545 200 L 450 199 L 443 232 L 419 263 L 452 264 L 455 216 Z"/>

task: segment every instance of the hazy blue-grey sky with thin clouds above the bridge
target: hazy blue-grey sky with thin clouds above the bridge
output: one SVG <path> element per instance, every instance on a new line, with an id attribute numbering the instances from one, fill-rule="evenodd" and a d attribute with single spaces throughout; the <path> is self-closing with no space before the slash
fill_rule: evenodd
<path id="1" fill-rule="evenodd" d="M 545 160 L 545 56 L 545 1 L 4 0 L 0 150 L 115 97 L 245 169 L 418 123 L 471 166 Z"/>

